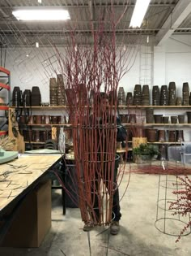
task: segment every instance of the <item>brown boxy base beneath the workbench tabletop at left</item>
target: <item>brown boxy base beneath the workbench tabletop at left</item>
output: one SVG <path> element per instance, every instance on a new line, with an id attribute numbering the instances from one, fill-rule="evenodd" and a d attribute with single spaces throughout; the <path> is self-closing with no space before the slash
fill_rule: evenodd
<path id="1" fill-rule="evenodd" d="M 1 246 L 39 247 L 51 227 L 51 210 L 51 181 L 48 180 L 24 198 Z"/>

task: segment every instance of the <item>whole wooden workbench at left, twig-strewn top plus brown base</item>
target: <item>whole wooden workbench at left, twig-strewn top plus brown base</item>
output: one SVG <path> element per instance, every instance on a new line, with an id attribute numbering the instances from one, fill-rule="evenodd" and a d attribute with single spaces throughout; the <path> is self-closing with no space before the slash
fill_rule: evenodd
<path id="1" fill-rule="evenodd" d="M 49 171 L 60 158 L 24 154 L 0 165 L 0 246 L 40 246 L 51 227 Z"/>

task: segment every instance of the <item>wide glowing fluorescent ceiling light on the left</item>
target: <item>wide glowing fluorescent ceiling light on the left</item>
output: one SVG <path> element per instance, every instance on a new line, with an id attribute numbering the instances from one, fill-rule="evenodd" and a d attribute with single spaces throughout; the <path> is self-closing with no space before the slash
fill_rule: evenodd
<path id="1" fill-rule="evenodd" d="M 63 9 L 30 8 L 12 11 L 17 20 L 70 20 L 70 14 Z"/>

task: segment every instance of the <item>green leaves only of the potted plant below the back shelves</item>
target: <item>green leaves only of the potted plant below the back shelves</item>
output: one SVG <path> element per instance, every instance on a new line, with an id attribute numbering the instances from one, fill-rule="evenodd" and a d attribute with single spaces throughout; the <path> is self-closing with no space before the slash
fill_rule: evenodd
<path id="1" fill-rule="evenodd" d="M 150 155 L 151 157 L 154 157 L 159 154 L 159 150 L 155 145 L 140 144 L 137 148 L 133 149 L 133 154 Z"/>

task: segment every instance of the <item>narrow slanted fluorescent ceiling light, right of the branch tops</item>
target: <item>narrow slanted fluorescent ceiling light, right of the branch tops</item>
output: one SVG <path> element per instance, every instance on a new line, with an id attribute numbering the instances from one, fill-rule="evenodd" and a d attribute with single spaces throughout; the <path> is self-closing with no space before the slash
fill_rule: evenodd
<path id="1" fill-rule="evenodd" d="M 129 27 L 140 28 L 151 0 L 137 0 Z"/>

